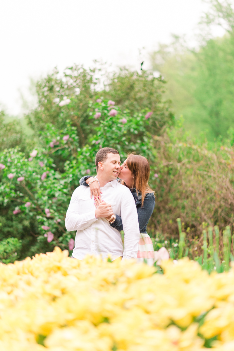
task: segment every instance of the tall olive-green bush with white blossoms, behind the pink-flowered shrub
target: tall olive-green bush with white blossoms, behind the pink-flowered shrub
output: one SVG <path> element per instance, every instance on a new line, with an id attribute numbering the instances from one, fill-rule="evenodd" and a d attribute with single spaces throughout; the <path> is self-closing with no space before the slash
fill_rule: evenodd
<path id="1" fill-rule="evenodd" d="M 105 84 L 101 90 L 103 81 Z M 165 124 L 173 122 L 170 103 L 162 99 L 164 85 L 163 80 L 145 71 L 139 74 L 120 69 L 107 74 L 103 68 L 85 69 L 75 65 L 67 68 L 61 78 L 55 69 L 36 83 L 39 104 L 28 114 L 27 120 L 38 133 L 45 130 L 47 123 L 59 130 L 65 128 L 69 119 L 77 128 L 78 143 L 83 147 L 94 132 L 89 106 L 90 100 L 94 101 L 98 95 L 104 100 L 114 100 L 131 116 L 142 110 L 152 111 L 155 118 L 152 132 L 159 133 Z"/>

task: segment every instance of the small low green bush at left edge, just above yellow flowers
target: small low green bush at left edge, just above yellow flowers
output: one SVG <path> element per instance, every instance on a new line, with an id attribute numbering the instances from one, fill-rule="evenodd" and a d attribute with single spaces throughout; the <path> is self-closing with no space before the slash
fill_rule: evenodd
<path id="1" fill-rule="evenodd" d="M 21 240 L 17 238 L 8 238 L 0 241 L 0 262 L 13 263 L 18 257 L 21 250 Z"/>

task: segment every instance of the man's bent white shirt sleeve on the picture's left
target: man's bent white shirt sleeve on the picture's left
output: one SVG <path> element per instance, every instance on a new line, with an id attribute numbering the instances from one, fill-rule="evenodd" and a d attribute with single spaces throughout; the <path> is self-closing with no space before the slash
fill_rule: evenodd
<path id="1" fill-rule="evenodd" d="M 65 227 L 68 232 L 73 230 L 84 230 L 97 220 L 95 217 L 95 209 L 90 212 L 80 214 L 79 195 L 81 190 L 79 188 L 80 187 L 76 188 L 72 194 L 67 210 Z"/>

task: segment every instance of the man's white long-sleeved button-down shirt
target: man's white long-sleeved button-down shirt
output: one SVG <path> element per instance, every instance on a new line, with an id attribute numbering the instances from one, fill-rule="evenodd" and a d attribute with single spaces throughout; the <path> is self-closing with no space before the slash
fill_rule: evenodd
<path id="1" fill-rule="evenodd" d="M 96 178 L 96 177 L 95 177 Z M 113 213 L 122 217 L 124 250 L 119 231 L 105 218 L 96 218 L 94 197 L 90 188 L 80 185 L 72 194 L 65 226 L 70 232 L 77 230 L 73 257 L 82 260 L 87 254 L 102 255 L 111 259 L 123 256 L 136 258 L 140 238 L 137 209 L 130 190 L 112 180 L 102 188 L 102 199 L 111 204 Z"/>

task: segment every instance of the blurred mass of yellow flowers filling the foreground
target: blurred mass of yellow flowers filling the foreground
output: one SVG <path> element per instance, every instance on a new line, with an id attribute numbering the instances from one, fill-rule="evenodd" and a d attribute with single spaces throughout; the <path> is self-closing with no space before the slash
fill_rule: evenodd
<path id="1" fill-rule="evenodd" d="M 0 349 L 233 350 L 234 268 L 202 271 L 182 259 L 164 274 L 134 260 L 68 251 L 0 265 Z"/>

